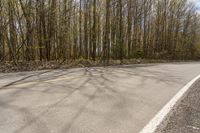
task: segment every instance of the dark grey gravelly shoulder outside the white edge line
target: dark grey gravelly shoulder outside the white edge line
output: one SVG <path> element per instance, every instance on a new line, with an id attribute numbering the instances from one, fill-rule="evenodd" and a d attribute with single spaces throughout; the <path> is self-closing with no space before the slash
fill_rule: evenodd
<path id="1" fill-rule="evenodd" d="M 200 133 L 200 79 L 172 109 L 156 133 Z"/>

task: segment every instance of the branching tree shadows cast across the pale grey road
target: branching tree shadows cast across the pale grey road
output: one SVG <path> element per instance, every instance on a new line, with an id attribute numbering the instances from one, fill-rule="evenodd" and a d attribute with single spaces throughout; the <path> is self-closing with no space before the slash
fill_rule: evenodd
<path id="1" fill-rule="evenodd" d="M 144 68 L 145 66 L 139 66 L 139 68 Z M 90 105 L 90 103 L 97 97 L 100 96 L 100 94 L 102 95 L 108 95 L 111 94 L 112 96 L 119 96 L 120 99 L 123 99 L 124 97 L 120 94 L 120 91 L 117 90 L 116 88 L 114 88 L 113 86 L 111 86 L 112 84 L 115 84 L 116 82 L 120 83 L 121 78 L 124 78 L 125 80 L 128 78 L 134 78 L 135 76 L 137 77 L 142 77 L 141 79 L 141 84 L 139 85 L 140 87 L 142 86 L 142 84 L 145 84 L 145 80 L 147 79 L 154 79 L 157 82 L 177 82 L 174 81 L 174 79 L 172 80 L 168 80 L 163 78 L 165 76 L 172 77 L 172 75 L 170 73 L 165 73 L 161 70 L 157 70 L 157 71 L 149 71 L 147 69 L 142 70 L 143 73 L 139 73 L 134 69 L 131 69 L 132 67 L 128 67 L 128 68 L 124 68 L 123 69 L 120 68 L 86 68 L 86 69 L 81 69 L 81 71 L 83 71 L 83 73 L 81 73 L 79 76 L 80 77 L 84 77 L 83 79 L 71 79 L 71 80 L 66 80 L 65 84 L 61 84 L 58 85 L 58 83 L 45 83 L 47 85 L 51 85 L 51 86 L 55 86 L 55 91 L 52 92 L 56 93 L 59 92 L 58 87 L 60 86 L 60 88 L 63 91 L 63 93 L 66 93 L 64 96 L 62 96 L 61 98 L 59 98 L 59 100 L 55 101 L 53 104 L 51 104 L 50 106 L 47 107 L 47 109 L 45 109 L 43 112 L 41 112 L 39 115 L 37 116 L 31 116 L 32 114 L 29 112 L 29 109 L 24 107 L 23 109 L 20 109 L 17 106 L 12 106 L 9 104 L 9 101 L 7 102 L 1 102 L 0 104 L 3 105 L 3 107 L 8 108 L 8 109 L 12 109 L 13 111 L 16 112 L 20 112 L 21 115 L 23 114 L 27 114 L 27 116 L 24 117 L 28 117 L 30 118 L 30 120 L 24 124 L 23 126 L 21 126 L 20 128 L 18 128 L 15 133 L 21 133 L 22 131 L 24 131 L 26 128 L 34 125 L 35 123 L 37 123 L 37 121 L 40 120 L 41 117 L 43 117 L 44 115 L 46 115 L 47 113 L 49 113 L 50 111 L 52 111 L 53 108 L 56 108 L 59 104 L 61 104 L 62 102 L 68 100 L 68 98 L 70 98 L 75 92 L 79 92 L 82 96 L 84 96 L 85 98 L 87 98 L 86 102 L 84 103 L 84 105 L 82 105 L 80 108 L 77 108 L 77 112 L 75 113 L 75 115 L 72 117 L 72 119 L 70 120 L 69 123 L 66 123 L 65 126 L 62 129 L 62 132 L 69 132 L 70 129 L 72 128 L 72 126 L 74 125 L 74 123 L 76 122 L 76 120 L 78 120 L 78 118 L 81 116 L 81 114 L 88 109 L 88 105 Z M 136 67 L 138 68 L 138 67 Z M 38 85 L 40 83 L 42 83 L 43 81 L 48 81 L 49 79 L 56 79 L 56 78 L 60 78 L 61 76 L 67 76 L 69 74 L 74 74 L 77 71 L 72 71 L 72 72 L 65 72 L 65 71 L 58 71 L 55 73 L 51 73 L 50 75 L 48 75 L 48 72 L 43 72 L 40 74 L 35 74 L 35 75 L 30 75 L 27 76 L 25 78 L 22 78 L 18 81 L 12 82 L 8 85 L 5 85 L 4 87 L 0 88 L 1 89 L 6 89 L 11 87 L 12 85 L 15 85 L 23 80 L 26 80 L 28 78 L 31 78 L 33 76 L 41 76 L 43 74 L 47 74 L 47 76 L 44 77 L 40 77 L 42 78 L 42 80 L 39 80 L 37 83 L 33 84 L 32 86 L 29 86 L 29 88 L 20 88 L 18 89 L 18 93 L 26 90 L 26 91 L 35 91 L 38 92 L 38 94 L 42 95 L 47 95 L 50 94 L 52 88 L 46 88 L 44 90 L 40 90 L 40 89 L 34 89 L 35 85 Z M 146 76 L 147 75 L 154 75 L 154 76 Z M 144 81 L 143 81 L 144 80 Z M 67 83 L 68 82 L 68 83 Z M 78 87 L 74 87 L 75 84 L 78 84 Z M 85 87 L 86 84 L 89 84 L 90 87 L 93 88 L 93 93 L 92 94 L 87 94 L 85 92 L 87 92 L 87 88 Z M 17 97 L 15 97 L 16 94 L 13 93 L 12 96 L 12 101 L 13 100 L 17 100 Z M 108 95 L 110 96 L 110 95 Z M 10 101 L 10 102 L 12 102 Z M 42 101 L 41 101 L 42 102 Z M 119 100 L 120 102 L 120 100 Z M 116 103 L 117 107 L 118 105 L 121 105 L 121 103 Z M 126 108 L 124 108 L 125 110 Z M 26 113 L 25 113 L 26 112 Z M 93 110 L 90 110 L 90 112 L 95 112 Z M 98 115 L 98 113 L 96 112 L 96 115 Z M 44 125 L 44 127 L 47 127 L 47 123 L 42 122 L 42 125 Z M 48 130 L 48 129 L 46 129 Z"/>

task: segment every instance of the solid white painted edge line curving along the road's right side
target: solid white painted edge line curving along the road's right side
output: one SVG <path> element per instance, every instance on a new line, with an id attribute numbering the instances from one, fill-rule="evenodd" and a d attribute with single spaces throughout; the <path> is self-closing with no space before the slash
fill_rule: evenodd
<path id="1" fill-rule="evenodd" d="M 200 78 L 200 75 L 185 85 L 156 115 L 155 117 L 140 131 L 140 133 L 154 133 L 167 114 L 176 105 L 179 99 L 189 90 L 189 88 Z"/>

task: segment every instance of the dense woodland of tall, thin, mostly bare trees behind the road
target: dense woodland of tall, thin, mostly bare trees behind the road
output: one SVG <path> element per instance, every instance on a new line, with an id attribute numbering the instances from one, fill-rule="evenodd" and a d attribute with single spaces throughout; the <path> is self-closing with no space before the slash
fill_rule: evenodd
<path id="1" fill-rule="evenodd" d="M 187 0 L 0 0 L 0 61 L 195 59 Z"/>

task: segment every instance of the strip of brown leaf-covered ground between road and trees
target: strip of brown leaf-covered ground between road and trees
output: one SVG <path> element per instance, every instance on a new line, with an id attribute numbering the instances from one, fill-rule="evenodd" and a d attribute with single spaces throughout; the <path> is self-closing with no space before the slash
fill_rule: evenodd
<path id="1" fill-rule="evenodd" d="M 108 61 L 92 61 L 92 60 L 70 60 L 70 61 L 34 61 L 34 62 L 18 62 L 14 65 L 12 62 L 0 63 L 0 72 L 20 72 L 20 71 L 35 71 L 44 69 L 68 69 L 74 67 L 93 67 L 93 66 L 108 66 L 108 65 L 128 65 L 141 63 L 166 63 L 166 60 L 144 60 L 144 59 L 130 59 L 130 60 L 110 60 Z"/>

